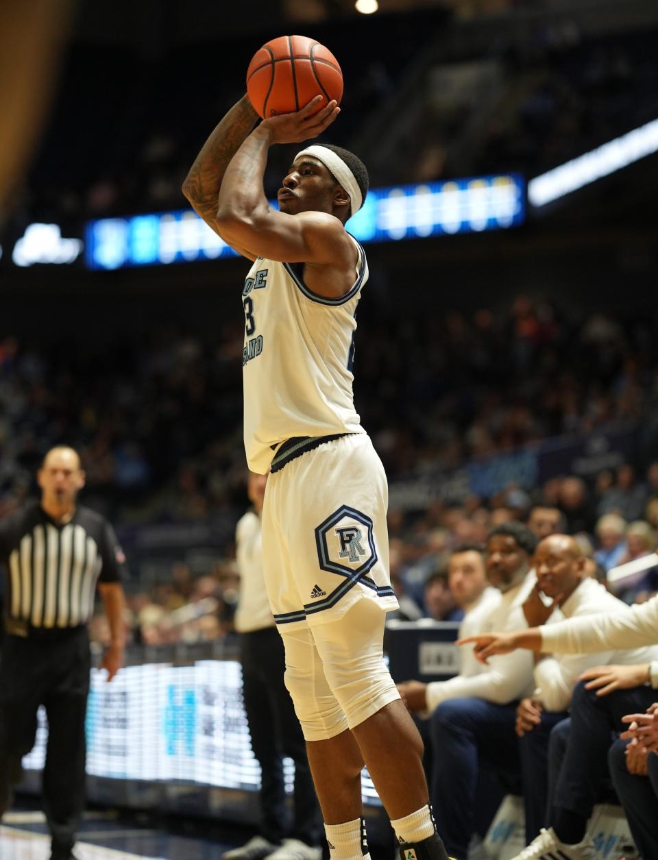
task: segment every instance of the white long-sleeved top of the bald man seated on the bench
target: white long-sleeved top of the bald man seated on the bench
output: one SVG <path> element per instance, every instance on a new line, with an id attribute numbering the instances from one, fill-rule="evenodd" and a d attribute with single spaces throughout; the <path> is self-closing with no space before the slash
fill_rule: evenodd
<path id="1" fill-rule="evenodd" d="M 561 607 L 565 618 L 592 616 L 600 612 L 624 612 L 627 608 L 626 604 L 606 591 L 600 582 L 590 578 L 583 580 Z M 535 667 L 537 689 L 534 697 L 541 701 L 546 710 L 567 710 L 575 683 L 587 669 L 613 663 L 632 666 L 636 663 L 649 663 L 651 660 L 658 660 L 656 647 L 632 650 L 607 648 L 605 651 L 588 654 L 558 654 L 546 657 Z"/>

